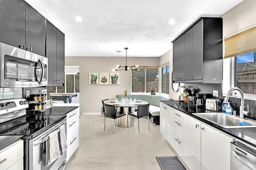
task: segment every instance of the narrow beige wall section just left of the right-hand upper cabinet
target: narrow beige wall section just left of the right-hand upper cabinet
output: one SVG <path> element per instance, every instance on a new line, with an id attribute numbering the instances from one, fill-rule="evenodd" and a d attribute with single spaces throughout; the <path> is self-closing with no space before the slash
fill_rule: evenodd
<path id="1" fill-rule="evenodd" d="M 162 56 L 159 57 L 159 65 L 162 65 L 162 64 L 167 63 L 167 62 L 169 62 L 169 65 L 170 65 L 169 98 L 171 98 L 173 100 L 178 100 L 179 91 L 174 92 L 172 90 L 172 49 L 170 51 L 167 51 L 166 53 L 164 53 Z"/>

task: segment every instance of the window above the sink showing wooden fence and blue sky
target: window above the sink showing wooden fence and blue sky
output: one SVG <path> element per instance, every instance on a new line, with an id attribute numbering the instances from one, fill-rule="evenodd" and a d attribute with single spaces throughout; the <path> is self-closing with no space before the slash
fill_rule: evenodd
<path id="1" fill-rule="evenodd" d="M 256 94 L 256 52 L 235 57 L 234 86 L 244 93 Z"/>

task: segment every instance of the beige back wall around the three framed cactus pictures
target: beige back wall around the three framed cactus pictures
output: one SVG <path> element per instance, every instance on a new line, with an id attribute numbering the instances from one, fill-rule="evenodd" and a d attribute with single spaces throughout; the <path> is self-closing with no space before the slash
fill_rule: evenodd
<path id="1" fill-rule="evenodd" d="M 122 89 L 131 89 L 131 71 L 118 71 L 120 85 L 89 85 L 89 72 L 112 72 L 116 64 L 125 65 L 125 57 L 65 57 L 65 66 L 79 66 L 80 114 L 101 112 L 103 99 L 115 98 Z M 127 65 L 158 66 L 158 57 L 128 57 Z"/>

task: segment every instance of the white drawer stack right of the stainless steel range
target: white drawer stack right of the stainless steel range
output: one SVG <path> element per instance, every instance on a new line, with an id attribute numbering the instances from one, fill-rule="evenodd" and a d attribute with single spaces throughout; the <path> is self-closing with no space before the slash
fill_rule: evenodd
<path id="1" fill-rule="evenodd" d="M 67 113 L 67 162 L 79 145 L 79 107 Z"/>

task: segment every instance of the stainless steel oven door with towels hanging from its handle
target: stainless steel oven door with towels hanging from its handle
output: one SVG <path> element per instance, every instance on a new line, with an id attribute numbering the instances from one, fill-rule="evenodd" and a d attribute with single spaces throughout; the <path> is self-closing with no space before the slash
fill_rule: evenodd
<path id="1" fill-rule="evenodd" d="M 66 168 L 67 150 L 62 151 L 58 159 L 50 165 L 46 165 L 46 140 L 47 135 L 57 130 L 61 125 L 66 125 L 66 119 L 54 125 L 46 132 L 35 137 L 35 139 L 28 140 L 28 153 L 26 153 L 26 170 L 62 170 Z M 28 158 L 28 159 L 27 159 Z"/>

